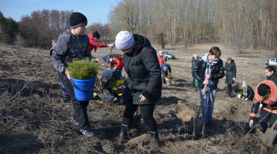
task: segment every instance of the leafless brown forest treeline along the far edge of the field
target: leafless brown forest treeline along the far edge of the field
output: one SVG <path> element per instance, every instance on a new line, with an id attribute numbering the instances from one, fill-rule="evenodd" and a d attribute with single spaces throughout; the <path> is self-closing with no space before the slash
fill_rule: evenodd
<path id="1" fill-rule="evenodd" d="M 68 29 L 72 12 L 33 11 L 22 16 L 17 35 L 27 46 L 49 48 L 51 40 Z M 277 0 L 121 0 L 111 9 L 109 23 L 88 25 L 86 33 L 98 30 L 105 42 L 128 30 L 162 47 L 220 42 L 239 52 L 244 48 L 276 51 L 276 24 Z"/>

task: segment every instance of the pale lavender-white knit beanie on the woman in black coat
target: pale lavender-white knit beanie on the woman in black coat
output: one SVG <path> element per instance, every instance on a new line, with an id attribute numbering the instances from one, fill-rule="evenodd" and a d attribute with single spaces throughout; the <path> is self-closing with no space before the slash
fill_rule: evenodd
<path id="1" fill-rule="evenodd" d="M 115 45 L 118 49 L 127 49 L 134 44 L 134 37 L 128 31 L 120 31 L 116 35 Z"/>

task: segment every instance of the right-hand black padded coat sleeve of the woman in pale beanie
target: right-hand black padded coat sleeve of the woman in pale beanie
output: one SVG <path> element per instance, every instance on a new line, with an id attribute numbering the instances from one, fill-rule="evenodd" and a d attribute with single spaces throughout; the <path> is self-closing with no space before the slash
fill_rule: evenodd
<path id="1" fill-rule="evenodd" d="M 149 99 L 151 94 L 157 89 L 158 83 L 161 82 L 161 67 L 157 60 L 156 50 L 153 48 L 142 52 L 142 59 L 144 66 L 151 76 L 148 84 L 142 91 L 142 95 Z"/>

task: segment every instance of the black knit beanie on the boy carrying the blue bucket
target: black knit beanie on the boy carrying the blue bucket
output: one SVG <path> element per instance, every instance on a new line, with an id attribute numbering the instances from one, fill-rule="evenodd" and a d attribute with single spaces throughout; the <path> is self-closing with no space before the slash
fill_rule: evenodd
<path id="1" fill-rule="evenodd" d="M 86 16 L 79 12 L 74 12 L 70 16 L 70 28 L 76 28 L 82 24 L 87 24 L 88 20 Z"/>

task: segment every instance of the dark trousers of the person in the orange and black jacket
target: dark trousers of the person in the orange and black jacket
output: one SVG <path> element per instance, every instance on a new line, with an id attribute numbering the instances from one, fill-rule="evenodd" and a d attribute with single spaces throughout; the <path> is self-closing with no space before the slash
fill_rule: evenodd
<path id="1" fill-rule="evenodd" d="M 269 119 L 269 125 L 267 126 L 267 122 Z M 261 115 L 260 115 L 260 125 L 262 127 L 261 132 L 265 133 L 266 129 L 268 127 L 271 127 L 275 120 L 277 119 L 277 114 L 269 113 L 266 110 L 261 110 Z"/>

